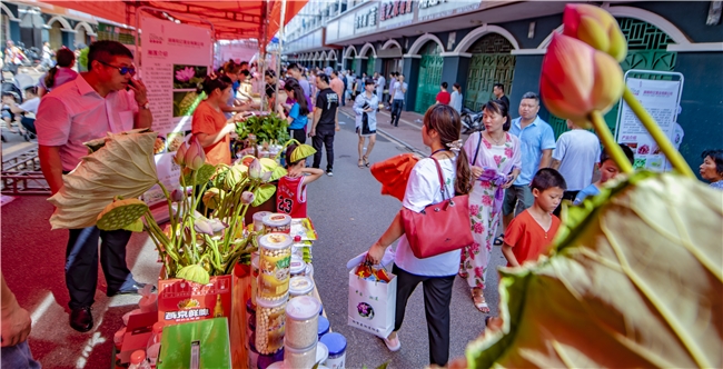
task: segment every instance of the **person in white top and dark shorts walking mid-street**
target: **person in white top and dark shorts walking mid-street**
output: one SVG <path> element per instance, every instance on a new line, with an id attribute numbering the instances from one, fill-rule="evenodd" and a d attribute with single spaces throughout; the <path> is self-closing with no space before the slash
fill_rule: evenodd
<path id="1" fill-rule="evenodd" d="M 369 168 L 369 154 L 377 141 L 377 109 L 379 108 L 379 98 L 374 94 L 374 80 L 367 78 L 364 81 L 364 93 L 357 96 L 354 101 L 354 112 L 356 112 L 356 132 L 359 134 L 359 168 Z M 369 138 L 369 146 L 366 154 L 364 153 L 364 143 Z"/>

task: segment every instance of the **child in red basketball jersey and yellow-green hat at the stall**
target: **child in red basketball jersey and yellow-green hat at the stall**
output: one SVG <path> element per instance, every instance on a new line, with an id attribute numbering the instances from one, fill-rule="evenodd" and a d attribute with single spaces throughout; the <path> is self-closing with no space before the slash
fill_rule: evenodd
<path id="1" fill-rule="evenodd" d="M 288 173 L 279 179 L 276 190 L 276 211 L 291 218 L 306 218 L 306 184 L 324 174 L 318 168 L 306 168 L 306 158 L 316 150 L 308 144 L 291 143 L 286 149 Z"/>

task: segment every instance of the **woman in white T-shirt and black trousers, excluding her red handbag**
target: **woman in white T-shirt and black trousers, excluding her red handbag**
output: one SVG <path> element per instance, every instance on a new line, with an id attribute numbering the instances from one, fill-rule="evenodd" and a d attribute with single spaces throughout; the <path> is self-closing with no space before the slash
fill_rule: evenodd
<path id="1" fill-rule="evenodd" d="M 452 107 L 437 104 L 427 110 L 422 127 L 422 140 L 432 149 L 432 157 L 419 160 L 412 170 L 404 196 L 404 208 L 419 213 L 427 206 L 445 201 L 437 168 L 442 171 L 445 192 L 469 193 L 472 174 L 467 157 L 460 150 L 459 131 L 459 114 Z M 404 235 L 403 212 L 404 209 L 382 238 L 372 246 L 367 256 L 370 262 L 378 263 L 386 248 L 399 239 L 393 269 L 398 283 L 395 327 L 394 332 L 384 339 L 384 342 L 392 351 L 402 347 L 397 331 L 402 328 L 407 299 L 417 285 L 422 283 L 429 336 L 429 362 L 444 367 L 449 358 L 449 302 L 454 278 L 459 268 L 460 251 L 457 249 L 424 259 L 416 258 Z"/>

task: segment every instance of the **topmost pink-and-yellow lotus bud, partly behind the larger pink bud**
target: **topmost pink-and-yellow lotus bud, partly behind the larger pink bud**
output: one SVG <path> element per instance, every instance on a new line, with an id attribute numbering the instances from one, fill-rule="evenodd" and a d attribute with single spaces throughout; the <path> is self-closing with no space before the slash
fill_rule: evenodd
<path id="1" fill-rule="evenodd" d="M 625 60 L 625 36 L 615 18 L 607 11 L 595 6 L 568 3 L 565 6 L 563 23 L 563 34 L 574 37 L 617 61 Z"/>

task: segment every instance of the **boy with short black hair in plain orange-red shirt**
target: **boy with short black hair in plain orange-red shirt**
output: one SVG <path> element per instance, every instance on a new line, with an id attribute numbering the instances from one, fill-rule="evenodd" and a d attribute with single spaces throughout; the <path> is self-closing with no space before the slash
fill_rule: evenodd
<path id="1" fill-rule="evenodd" d="M 554 169 L 543 168 L 535 174 L 531 187 L 534 205 L 519 213 L 505 231 L 502 253 L 507 259 L 507 267 L 519 267 L 527 260 L 537 260 L 547 252 L 559 228 L 559 218 L 552 212 L 567 188 L 563 176 Z"/>

